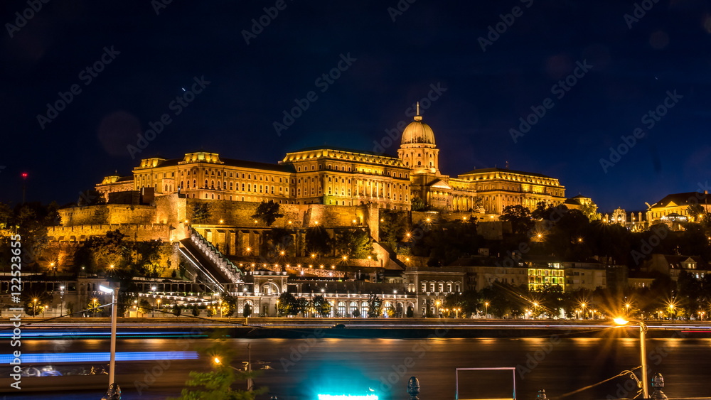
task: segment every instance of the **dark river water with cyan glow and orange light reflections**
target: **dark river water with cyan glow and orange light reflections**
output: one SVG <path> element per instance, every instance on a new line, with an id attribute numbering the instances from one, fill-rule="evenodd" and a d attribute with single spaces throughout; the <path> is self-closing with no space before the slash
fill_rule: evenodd
<path id="1" fill-rule="evenodd" d="M 407 379 L 419 378 L 419 398 L 454 399 L 456 368 L 515 367 L 515 372 L 460 372 L 459 399 L 511 398 L 513 378 L 518 399 L 534 399 L 545 389 L 551 399 L 607 399 L 636 394 L 629 374 L 576 394 L 577 389 L 638 367 L 637 337 L 567 338 L 545 336 L 523 339 L 231 339 L 240 368 L 252 347 L 252 364 L 263 369 L 257 387 L 269 387 L 269 399 L 316 399 L 317 394 L 377 394 L 380 399 L 409 399 Z M 118 352 L 197 350 L 208 340 L 119 340 Z M 58 347 L 58 345 L 61 345 Z M 23 353 L 105 352 L 107 340 L 24 341 Z M 711 339 L 648 339 L 649 371 L 661 372 L 670 397 L 711 397 Z M 2 346 L 3 352 L 9 347 Z M 123 399 L 166 399 L 177 396 L 191 370 L 206 370 L 209 360 L 123 362 L 117 364 L 117 382 Z M 264 369 L 266 368 L 266 369 Z M 2 366 L 2 378 L 9 373 Z M 42 379 L 53 379 L 44 384 Z M 7 399 L 100 399 L 105 376 L 23 379 L 23 390 L 0 388 Z M 57 381 L 57 382 L 55 382 Z M 46 381 L 50 382 L 50 381 Z M 59 387 L 49 393 L 31 387 Z M 651 392 L 651 391 L 650 391 Z M 1 397 L 0 397 L 1 399 Z"/>

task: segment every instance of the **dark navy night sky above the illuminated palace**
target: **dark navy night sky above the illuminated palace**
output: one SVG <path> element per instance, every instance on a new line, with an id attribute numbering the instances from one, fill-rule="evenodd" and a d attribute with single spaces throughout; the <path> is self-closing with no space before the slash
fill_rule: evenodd
<path id="1" fill-rule="evenodd" d="M 410 1 L 3 1 L 0 201 L 21 201 L 25 171 L 28 200 L 65 204 L 140 158 L 201 149 L 268 163 L 324 144 L 396 155 L 386 130 L 428 95 L 423 121 L 451 176 L 508 161 L 602 212 L 711 180 L 711 1 Z M 277 134 L 295 99 L 308 109 Z M 520 118 L 538 121 L 512 135 Z"/>

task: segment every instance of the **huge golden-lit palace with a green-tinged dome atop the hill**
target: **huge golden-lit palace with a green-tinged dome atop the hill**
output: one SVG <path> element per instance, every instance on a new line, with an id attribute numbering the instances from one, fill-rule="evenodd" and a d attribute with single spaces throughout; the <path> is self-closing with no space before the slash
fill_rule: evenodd
<path id="1" fill-rule="evenodd" d="M 109 193 L 153 188 L 156 197 L 281 204 L 353 206 L 373 203 L 410 210 L 413 198 L 432 210 L 498 215 L 507 205 L 535 209 L 558 205 L 565 187 L 556 178 L 503 168 L 483 168 L 450 178 L 439 171 L 439 149 L 419 106 L 402 132 L 397 157 L 336 147 L 287 153 L 279 163 L 257 163 L 198 151 L 183 158 L 145 158 L 132 176 L 105 177 L 96 190 Z"/>

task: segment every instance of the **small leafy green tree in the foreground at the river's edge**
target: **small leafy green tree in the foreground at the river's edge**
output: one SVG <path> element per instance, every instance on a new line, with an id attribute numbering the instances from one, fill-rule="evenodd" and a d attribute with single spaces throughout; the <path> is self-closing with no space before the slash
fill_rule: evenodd
<path id="1" fill-rule="evenodd" d="M 190 379 L 181 391 L 181 396 L 171 400 L 254 400 L 267 392 L 266 387 L 245 391 L 232 389 L 237 381 L 259 376 L 261 371 L 239 371 L 232 367 L 235 351 L 225 340 L 213 340 L 210 347 L 200 350 L 200 354 L 208 360 L 217 358 L 220 362 L 212 362 L 209 372 L 190 372 Z"/>

